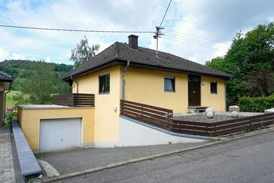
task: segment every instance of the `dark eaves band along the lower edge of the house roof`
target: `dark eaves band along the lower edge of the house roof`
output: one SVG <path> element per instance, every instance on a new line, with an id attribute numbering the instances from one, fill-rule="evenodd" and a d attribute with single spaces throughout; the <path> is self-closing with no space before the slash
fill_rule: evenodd
<path id="1" fill-rule="evenodd" d="M 84 72 L 80 72 L 78 74 L 73 74 L 73 77 L 81 77 L 84 76 L 86 74 L 91 74 L 93 72 L 98 72 L 102 69 L 107 69 L 109 67 L 114 67 L 117 65 L 126 65 L 126 60 L 122 60 L 119 59 L 117 57 L 113 57 L 112 60 L 110 61 L 106 61 L 106 63 L 102 64 L 102 65 L 98 65 L 97 67 L 93 67 L 91 69 L 88 69 Z M 157 65 L 148 65 L 148 64 L 144 64 L 144 63 L 135 63 L 134 61 L 130 62 L 130 66 L 133 67 L 141 67 L 141 68 L 146 68 L 146 69 L 157 69 L 157 70 L 161 70 L 161 71 L 165 71 L 165 72 L 176 72 L 176 73 L 181 73 L 181 74 L 192 74 L 192 75 L 197 75 L 197 76 L 207 76 L 207 77 L 213 77 L 213 78 L 221 78 L 221 79 L 225 79 L 225 80 L 230 80 L 230 78 L 232 78 L 233 76 L 220 76 L 218 74 L 207 74 L 205 72 L 192 72 L 192 71 L 187 71 L 187 70 L 183 70 L 183 69 L 174 69 L 174 68 L 170 68 L 170 67 L 163 67 L 163 66 L 157 66 Z M 229 74 L 230 75 L 230 74 Z M 71 80 L 71 75 L 67 75 L 64 78 L 62 78 L 62 80 L 64 81 L 69 81 Z"/>

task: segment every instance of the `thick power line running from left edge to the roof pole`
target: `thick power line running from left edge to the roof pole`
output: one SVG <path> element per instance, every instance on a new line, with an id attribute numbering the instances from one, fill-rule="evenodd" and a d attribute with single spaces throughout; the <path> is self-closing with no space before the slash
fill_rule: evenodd
<path id="1" fill-rule="evenodd" d="M 60 29 L 60 28 L 36 28 L 36 27 L 24 27 L 15 25 L 0 25 L 4 28 L 21 28 L 31 30 L 54 30 L 54 31 L 68 31 L 68 32 L 103 32 L 103 33 L 155 33 L 153 31 L 115 31 L 115 30 L 73 30 L 73 29 Z"/>

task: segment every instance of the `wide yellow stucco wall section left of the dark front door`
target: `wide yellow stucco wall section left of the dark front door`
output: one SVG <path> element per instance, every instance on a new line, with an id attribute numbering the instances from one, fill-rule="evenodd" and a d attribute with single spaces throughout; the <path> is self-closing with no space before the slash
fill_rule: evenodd
<path id="1" fill-rule="evenodd" d="M 164 76 L 175 77 L 175 92 L 164 92 Z M 128 67 L 125 82 L 125 100 L 187 111 L 187 74 Z"/>

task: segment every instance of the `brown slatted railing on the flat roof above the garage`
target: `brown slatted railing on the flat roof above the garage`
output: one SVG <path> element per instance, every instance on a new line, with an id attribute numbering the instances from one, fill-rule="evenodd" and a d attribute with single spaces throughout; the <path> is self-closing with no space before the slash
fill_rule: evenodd
<path id="1" fill-rule="evenodd" d="M 94 107 L 94 94 L 61 94 L 52 96 L 52 103 L 72 107 Z"/>

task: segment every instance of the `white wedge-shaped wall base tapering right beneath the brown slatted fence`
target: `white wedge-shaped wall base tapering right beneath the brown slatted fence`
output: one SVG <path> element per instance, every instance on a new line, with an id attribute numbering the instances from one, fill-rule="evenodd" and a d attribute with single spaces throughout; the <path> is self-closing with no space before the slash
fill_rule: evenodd
<path id="1" fill-rule="evenodd" d="M 185 142 L 204 142 L 208 138 L 174 134 L 165 130 L 141 125 L 140 122 L 129 118 L 119 118 L 119 144 L 117 146 L 143 146 Z"/>

